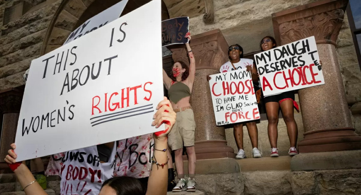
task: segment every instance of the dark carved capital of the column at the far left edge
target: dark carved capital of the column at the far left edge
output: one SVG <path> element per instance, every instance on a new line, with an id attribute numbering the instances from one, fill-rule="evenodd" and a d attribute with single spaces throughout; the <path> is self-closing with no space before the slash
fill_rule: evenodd
<path id="1" fill-rule="evenodd" d="M 0 110 L 3 113 L 20 112 L 23 91 L 17 88 L 0 90 Z"/>

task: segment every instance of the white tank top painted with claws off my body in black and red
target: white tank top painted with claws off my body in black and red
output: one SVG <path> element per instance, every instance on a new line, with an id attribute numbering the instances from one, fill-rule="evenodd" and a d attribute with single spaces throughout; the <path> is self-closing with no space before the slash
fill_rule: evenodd
<path id="1" fill-rule="evenodd" d="M 113 177 L 116 143 L 109 161 L 100 163 L 96 146 L 65 152 L 60 169 L 61 195 L 98 195 L 106 179 Z"/>

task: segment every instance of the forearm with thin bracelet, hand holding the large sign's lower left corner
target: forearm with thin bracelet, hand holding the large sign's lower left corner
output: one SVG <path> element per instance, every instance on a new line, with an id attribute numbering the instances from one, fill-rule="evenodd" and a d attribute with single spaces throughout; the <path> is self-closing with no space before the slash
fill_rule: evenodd
<path id="1" fill-rule="evenodd" d="M 13 149 L 15 144 L 10 145 Z M 27 166 L 21 162 L 16 162 L 16 154 L 14 150 L 8 151 L 9 155 L 5 157 L 5 162 L 8 163 L 10 169 L 16 174 L 19 179 L 21 187 L 24 189 L 26 195 L 48 195 L 43 188 L 36 182 L 34 175 L 30 172 Z"/>

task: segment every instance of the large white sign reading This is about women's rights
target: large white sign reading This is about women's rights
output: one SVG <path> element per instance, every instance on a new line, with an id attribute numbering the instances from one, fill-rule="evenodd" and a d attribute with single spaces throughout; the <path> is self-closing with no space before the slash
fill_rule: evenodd
<path id="1" fill-rule="evenodd" d="M 161 0 L 153 0 L 33 60 L 17 160 L 164 130 L 152 126 L 163 100 L 160 39 Z"/>

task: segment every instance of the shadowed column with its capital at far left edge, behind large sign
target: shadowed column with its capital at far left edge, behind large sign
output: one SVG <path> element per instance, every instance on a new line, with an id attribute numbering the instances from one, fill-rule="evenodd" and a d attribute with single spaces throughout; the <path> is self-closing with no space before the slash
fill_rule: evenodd
<path id="1" fill-rule="evenodd" d="M 22 96 L 22 90 L 17 88 L 0 91 L 0 108 L 3 110 L 3 126 L 0 137 L 0 162 L 4 162 L 4 157 L 10 149 L 10 144 L 15 142 Z"/>

